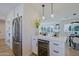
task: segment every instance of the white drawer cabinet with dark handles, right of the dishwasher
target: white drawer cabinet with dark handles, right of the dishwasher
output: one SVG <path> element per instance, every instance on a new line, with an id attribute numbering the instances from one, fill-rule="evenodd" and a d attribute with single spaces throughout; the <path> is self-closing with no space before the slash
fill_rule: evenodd
<path id="1" fill-rule="evenodd" d="M 65 43 L 61 41 L 50 41 L 50 56 L 64 56 Z"/>

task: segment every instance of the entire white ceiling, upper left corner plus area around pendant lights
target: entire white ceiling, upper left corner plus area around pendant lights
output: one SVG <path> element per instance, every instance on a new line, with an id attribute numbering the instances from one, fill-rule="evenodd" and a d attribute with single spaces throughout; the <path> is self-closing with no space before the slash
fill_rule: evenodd
<path id="1" fill-rule="evenodd" d="M 0 19 L 5 19 L 10 10 L 15 8 L 18 3 L 0 3 Z M 42 4 L 35 4 L 40 9 Z M 79 18 L 79 3 L 54 3 L 53 13 L 55 19 Z M 39 12 L 40 13 L 40 12 Z M 73 16 L 73 13 L 77 13 Z M 50 17 L 50 4 L 45 4 L 45 17 Z"/>

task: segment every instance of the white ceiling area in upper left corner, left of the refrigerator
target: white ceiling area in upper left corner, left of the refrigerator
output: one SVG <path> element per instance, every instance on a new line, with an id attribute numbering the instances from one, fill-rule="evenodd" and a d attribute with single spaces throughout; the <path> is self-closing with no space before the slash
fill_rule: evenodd
<path id="1" fill-rule="evenodd" d="M 5 19 L 10 10 L 15 8 L 18 3 L 0 3 L 0 19 Z"/>

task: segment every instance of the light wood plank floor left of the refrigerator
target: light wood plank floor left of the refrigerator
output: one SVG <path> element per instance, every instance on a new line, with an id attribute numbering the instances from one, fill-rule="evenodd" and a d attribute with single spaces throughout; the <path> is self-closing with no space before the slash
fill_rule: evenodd
<path id="1" fill-rule="evenodd" d="M 0 56 L 13 56 L 12 50 L 6 46 L 4 39 L 0 39 Z"/>

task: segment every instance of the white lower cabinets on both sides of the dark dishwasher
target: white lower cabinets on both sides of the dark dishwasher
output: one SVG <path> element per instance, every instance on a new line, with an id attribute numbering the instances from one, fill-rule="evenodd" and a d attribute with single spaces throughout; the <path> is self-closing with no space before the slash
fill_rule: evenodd
<path id="1" fill-rule="evenodd" d="M 65 42 L 49 39 L 49 55 L 50 56 L 65 56 Z M 32 52 L 38 55 L 38 39 L 32 39 Z"/>

